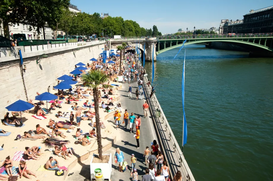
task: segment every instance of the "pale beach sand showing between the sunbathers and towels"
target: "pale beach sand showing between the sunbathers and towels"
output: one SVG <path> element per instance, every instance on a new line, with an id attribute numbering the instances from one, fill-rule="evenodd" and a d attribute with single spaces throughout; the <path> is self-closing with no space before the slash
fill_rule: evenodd
<path id="1" fill-rule="evenodd" d="M 110 82 L 110 84 L 113 82 Z M 121 85 L 121 83 L 113 83 L 113 84 L 118 84 Z M 76 85 L 72 85 L 72 88 L 75 88 L 76 86 L 78 86 L 78 84 Z M 115 87 L 115 86 L 114 86 Z M 115 87 L 116 89 L 117 87 Z M 85 88 L 86 90 L 87 88 Z M 100 89 L 102 90 L 102 89 Z M 37 90 L 39 92 L 39 90 Z M 42 92 L 40 92 L 42 93 Z M 50 93 L 57 93 L 57 90 L 50 90 Z M 65 96 L 67 97 L 67 96 Z M 119 99 L 119 95 L 111 95 L 110 98 L 115 99 L 115 103 L 114 105 L 116 106 L 118 104 L 117 99 Z M 29 99 L 33 99 L 34 103 L 38 102 L 35 101 L 35 97 L 30 97 Z M 93 96 L 89 96 L 88 100 L 89 102 L 91 102 L 91 99 L 93 99 Z M 85 102 L 86 99 L 83 99 L 82 101 L 77 101 L 78 106 L 82 106 L 83 103 Z M 46 101 L 44 101 L 46 102 Z M 73 101 L 72 101 L 73 102 Z M 106 101 L 107 102 L 107 101 Z M 42 108 L 46 108 L 48 106 L 48 108 L 50 107 L 51 103 L 47 103 L 47 105 L 42 105 Z M 8 131 L 8 132 L 12 132 L 11 135 L 7 136 L 7 137 L 0 137 L 0 144 L 4 144 L 4 150 L 0 151 L 1 153 L 1 163 L 3 163 L 3 161 L 5 160 L 5 158 L 7 156 L 10 156 L 11 159 L 14 156 L 14 153 L 16 151 L 25 151 L 25 147 L 32 147 L 32 146 L 41 146 L 42 147 L 42 156 L 40 158 L 40 160 L 29 160 L 26 161 L 27 164 L 27 169 L 31 170 L 32 172 L 34 172 L 37 176 L 37 178 L 35 178 L 34 176 L 31 176 L 32 180 L 40 180 L 40 181 L 46 181 L 46 180 L 59 180 L 59 179 L 63 179 L 64 176 L 61 177 L 57 177 L 55 176 L 55 171 L 48 171 L 48 170 L 42 170 L 42 171 L 37 171 L 39 167 L 43 167 L 45 165 L 45 163 L 47 162 L 47 160 L 49 159 L 50 156 L 53 156 L 54 159 L 57 159 L 59 162 L 60 166 L 65 166 L 68 167 L 73 161 L 75 161 L 77 158 L 79 158 L 80 156 L 85 155 L 86 153 L 96 150 L 97 149 L 97 143 L 96 143 L 96 138 L 91 138 L 91 144 L 88 146 L 82 146 L 81 144 L 74 144 L 74 142 L 76 141 L 76 139 L 74 138 L 74 135 L 76 133 L 76 129 L 78 128 L 76 126 L 76 128 L 74 129 L 74 132 L 66 132 L 67 130 L 59 130 L 61 132 L 64 133 L 64 135 L 67 136 L 67 138 L 61 138 L 60 136 L 57 137 L 58 140 L 69 140 L 70 143 L 66 145 L 67 148 L 73 148 L 75 154 L 69 158 L 68 160 L 65 160 L 64 157 L 59 157 L 55 154 L 53 154 L 53 152 L 50 151 L 45 151 L 45 149 L 49 149 L 49 148 L 53 148 L 54 146 L 45 146 L 44 140 L 43 139 L 38 139 L 38 140 L 15 140 L 17 135 L 23 135 L 23 132 L 25 131 L 29 131 L 29 130 L 36 130 L 36 125 L 39 124 L 41 127 L 45 128 L 45 130 L 47 132 L 49 132 L 49 130 L 51 130 L 50 128 L 47 128 L 46 125 L 48 125 L 49 119 L 53 119 L 55 121 L 65 121 L 68 120 L 69 118 L 65 119 L 65 118 L 57 118 L 55 117 L 55 114 L 57 113 L 57 111 L 62 111 L 62 112 L 69 112 L 70 110 L 68 110 L 69 108 L 71 108 L 70 104 L 61 104 L 62 108 L 56 108 L 56 110 L 52 110 L 51 112 L 53 114 L 48 114 L 46 117 L 47 119 L 44 120 L 39 120 L 36 119 L 34 117 L 31 117 L 33 114 L 33 109 L 31 109 L 31 113 L 24 113 L 24 115 L 22 115 L 22 120 L 23 123 L 25 124 L 25 126 L 18 128 L 18 127 L 12 127 L 12 126 L 5 126 L 5 125 L 1 125 L 0 128 Z M 89 109 L 89 108 L 88 108 Z M 87 109 L 87 110 L 88 110 Z M 94 108 L 91 108 L 93 111 Z M 105 146 L 107 144 L 109 144 L 111 142 L 112 139 L 115 138 L 116 136 L 116 132 L 115 132 L 115 128 L 112 125 L 112 122 L 108 122 L 105 121 L 105 119 L 107 119 L 109 116 L 113 116 L 114 112 L 108 113 L 110 114 L 109 116 L 107 116 L 107 113 L 104 112 L 105 109 L 99 109 L 99 114 L 101 119 L 104 122 L 104 125 L 106 126 L 105 129 L 101 129 L 101 137 L 102 137 L 102 145 Z M 123 110 L 124 111 L 124 110 Z M 82 111 L 83 112 L 83 111 Z M 11 112 L 10 112 L 11 114 Z M 74 111 L 75 114 L 75 111 Z M 20 119 L 20 117 L 17 117 L 18 119 Z M 105 118 L 105 119 L 104 119 Z M 76 121 L 76 119 L 74 118 L 74 122 Z M 92 128 L 89 123 L 91 121 L 90 120 L 82 120 L 81 121 L 81 125 L 79 128 L 82 129 L 83 133 L 84 132 L 89 132 L 89 130 Z M 44 134 L 41 134 L 44 135 Z M 47 136 L 48 137 L 48 136 Z M 49 137 L 48 137 L 49 138 Z M 56 138 L 54 138 L 56 139 Z M 13 161 L 13 166 L 18 167 L 19 162 L 18 161 Z M 25 177 L 22 177 L 20 180 L 24 181 L 24 180 L 28 180 Z"/>

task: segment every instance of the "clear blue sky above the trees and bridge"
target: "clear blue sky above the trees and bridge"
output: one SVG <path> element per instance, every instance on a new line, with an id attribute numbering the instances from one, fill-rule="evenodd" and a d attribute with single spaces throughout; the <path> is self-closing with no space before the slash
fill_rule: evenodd
<path id="1" fill-rule="evenodd" d="M 133 20 L 143 28 L 156 25 L 161 33 L 176 33 L 179 28 L 186 30 L 219 27 L 221 19 L 242 20 L 250 9 L 261 9 L 273 5 L 272 0 L 229 0 L 229 1 L 91 1 L 70 0 L 82 12 L 93 14 L 109 13 Z"/>

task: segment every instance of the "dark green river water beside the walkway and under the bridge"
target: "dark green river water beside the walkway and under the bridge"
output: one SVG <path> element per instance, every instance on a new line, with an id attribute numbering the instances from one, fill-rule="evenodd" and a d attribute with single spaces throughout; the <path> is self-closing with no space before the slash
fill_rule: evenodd
<path id="1" fill-rule="evenodd" d="M 157 56 L 154 87 L 182 144 L 184 49 Z M 145 69 L 151 78 L 151 62 Z M 186 49 L 185 159 L 196 180 L 273 180 L 273 59 L 190 45 Z M 181 148 L 181 146 L 180 146 Z"/>

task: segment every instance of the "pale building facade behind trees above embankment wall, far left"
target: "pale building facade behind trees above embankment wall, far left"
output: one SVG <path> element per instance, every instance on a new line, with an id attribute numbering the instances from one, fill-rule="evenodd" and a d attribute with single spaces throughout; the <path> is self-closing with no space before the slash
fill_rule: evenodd
<path id="1" fill-rule="evenodd" d="M 32 30 L 28 30 L 30 26 L 31 25 L 29 24 L 23 25 L 23 23 L 19 23 L 19 25 L 18 24 L 9 25 L 9 35 L 11 36 L 12 34 L 19 33 L 19 34 L 25 34 L 28 40 L 44 39 L 44 34 L 42 29 L 40 29 L 40 33 L 38 33 L 36 30 L 37 27 L 32 27 Z M 3 24 L 1 24 L 0 34 L 1 36 L 4 36 Z M 54 35 L 53 35 L 52 29 L 49 26 L 45 25 L 45 39 L 53 39 L 53 38 L 54 38 Z"/>

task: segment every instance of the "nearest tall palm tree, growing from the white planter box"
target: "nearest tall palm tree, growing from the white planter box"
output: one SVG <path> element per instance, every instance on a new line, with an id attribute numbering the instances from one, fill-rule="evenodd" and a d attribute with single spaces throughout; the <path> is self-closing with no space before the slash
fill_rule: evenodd
<path id="1" fill-rule="evenodd" d="M 99 85 L 107 82 L 109 76 L 99 70 L 91 70 L 87 74 L 82 75 L 81 82 L 85 87 L 93 89 L 95 114 L 96 114 L 96 129 L 97 129 L 97 143 L 99 158 L 102 159 L 102 145 L 101 145 L 101 127 L 99 124 Z M 109 87 L 113 87 L 110 86 Z"/>

